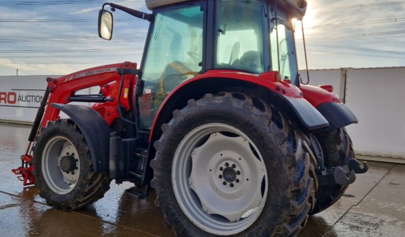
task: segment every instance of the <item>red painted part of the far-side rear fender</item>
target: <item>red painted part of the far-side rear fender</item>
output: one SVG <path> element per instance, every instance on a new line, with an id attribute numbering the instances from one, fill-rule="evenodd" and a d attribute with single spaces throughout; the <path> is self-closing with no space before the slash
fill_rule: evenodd
<path id="1" fill-rule="evenodd" d="M 299 88 L 301 89 L 304 98 L 308 100 L 308 102 L 310 102 L 315 108 L 326 102 L 342 103 L 341 99 L 338 95 L 336 95 L 336 93 L 329 91 L 330 88 L 333 90 L 332 86 L 323 86 L 325 88 L 313 85 L 300 85 Z"/>

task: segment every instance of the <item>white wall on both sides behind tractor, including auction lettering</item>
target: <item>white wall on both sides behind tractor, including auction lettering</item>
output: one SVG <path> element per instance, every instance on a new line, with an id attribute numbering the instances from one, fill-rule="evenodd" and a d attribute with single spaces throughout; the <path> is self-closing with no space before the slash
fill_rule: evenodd
<path id="1" fill-rule="evenodd" d="M 46 77 L 0 76 L 0 120 L 32 122 Z M 310 70 L 310 79 L 332 84 L 356 114 L 359 124 L 347 130 L 358 158 L 405 163 L 405 67 Z"/>

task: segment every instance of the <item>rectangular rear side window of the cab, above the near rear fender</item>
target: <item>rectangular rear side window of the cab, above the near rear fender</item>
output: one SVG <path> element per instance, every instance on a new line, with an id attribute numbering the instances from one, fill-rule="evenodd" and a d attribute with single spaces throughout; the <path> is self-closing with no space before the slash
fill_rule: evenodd
<path id="1" fill-rule="evenodd" d="M 255 0 L 218 0 L 214 68 L 264 71 L 263 7 Z"/>

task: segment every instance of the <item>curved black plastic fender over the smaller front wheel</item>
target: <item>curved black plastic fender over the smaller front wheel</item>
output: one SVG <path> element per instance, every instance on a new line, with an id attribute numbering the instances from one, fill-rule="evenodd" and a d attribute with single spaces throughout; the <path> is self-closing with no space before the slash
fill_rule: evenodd
<path id="1" fill-rule="evenodd" d="M 79 127 L 89 146 L 93 169 L 108 171 L 110 127 L 103 117 L 84 105 L 52 103 L 51 106 L 67 114 Z"/>

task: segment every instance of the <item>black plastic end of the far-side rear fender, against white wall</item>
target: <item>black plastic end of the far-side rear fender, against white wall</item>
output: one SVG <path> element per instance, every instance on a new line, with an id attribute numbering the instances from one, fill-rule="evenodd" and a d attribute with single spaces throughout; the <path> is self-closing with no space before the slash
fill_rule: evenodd
<path id="1" fill-rule="evenodd" d="M 318 105 L 316 108 L 329 122 L 329 127 L 324 128 L 322 131 L 332 131 L 358 123 L 357 117 L 343 103 L 327 102 Z"/>

